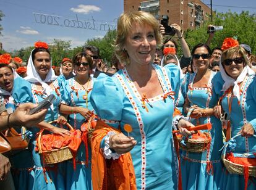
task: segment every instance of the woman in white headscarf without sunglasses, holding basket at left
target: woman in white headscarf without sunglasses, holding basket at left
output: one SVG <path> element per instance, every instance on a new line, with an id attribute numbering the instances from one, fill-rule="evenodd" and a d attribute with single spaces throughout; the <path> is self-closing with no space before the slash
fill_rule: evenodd
<path id="1" fill-rule="evenodd" d="M 45 122 L 38 124 L 38 127 L 30 128 L 32 139 L 29 149 L 32 152 L 34 166 L 32 168 L 33 186 L 32 189 L 64 189 L 64 165 L 45 165 L 41 159 L 36 147 L 36 133 L 40 128 L 60 134 L 69 135 L 70 131 L 56 127 L 48 122 L 58 120 L 58 123 L 66 123 L 64 117 L 59 117 L 59 105 L 61 104 L 61 95 L 59 85 L 51 68 L 51 55 L 48 50 L 48 44 L 43 42 L 35 43 L 35 49 L 32 50 L 28 59 L 27 77 L 25 80 L 21 77 L 15 79 L 13 96 L 17 104 L 23 102 L 38 103 L 43 101 L 49 94 L 54 94 L 56 99 L 45 117 Z"/>

